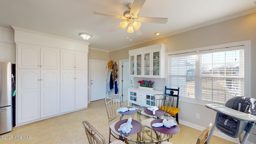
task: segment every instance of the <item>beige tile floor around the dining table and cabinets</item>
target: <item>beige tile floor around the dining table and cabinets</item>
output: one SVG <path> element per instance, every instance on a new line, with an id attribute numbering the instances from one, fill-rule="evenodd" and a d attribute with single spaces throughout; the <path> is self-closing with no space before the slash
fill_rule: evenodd
<path id="1" fill-rule="evenodd" d="M 127 102 L 122 104 L 127 106 Z M 54 118 L 14 127 L 1 136 L 31 136 L 31 139 L 1 139 L 1 144 L 88 144 L 82 121 L 87 120 L 106 138 L 108 144 L 108 116 L 104 100 L 88 104 L 88 108 Z M 201 131 L 179 124 L 180 132 L 170 142 L 195 144 Z M 111 137 L 112 138 L 112 137 Z M 112 138 L 113 139 L 113 138 Z M 212 136 L 210 144 L 235 144 Z"/>

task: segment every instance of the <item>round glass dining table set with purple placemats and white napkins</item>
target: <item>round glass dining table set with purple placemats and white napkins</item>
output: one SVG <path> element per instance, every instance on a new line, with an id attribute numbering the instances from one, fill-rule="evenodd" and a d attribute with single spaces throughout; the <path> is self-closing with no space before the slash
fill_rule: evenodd
<path id="1" fill-rule="evenodd" d="M 110 130 L 119 136 L 120 140 L 126 141 L 126 143 L 136 142 L 136 143 L 158 143 L 172 138 L 173 134 L 177 134 L 180 128 L 176 120 L 172 116 L 165 116 L 164 112 L 162 116 L 162 110 L 159 110 L 156 114 L 157 116 L 152 116 L 144 107 L 136 106 L 136 112 L 127 111 L 119 112 L 120 116 L 109 121 Z M 160 114 L 161 113 L 161 114 Z M 128 118 L 132 118 L 132 128 L 129 133 L 119 131 L 121 124 L 127 122 Z M 153 123 L 161 123 L 162 120 L 166 118 L 167 120 L 174 120 L 177 126 L 172 126 L 167 128 L 162 127 L 152 127 Z"/>

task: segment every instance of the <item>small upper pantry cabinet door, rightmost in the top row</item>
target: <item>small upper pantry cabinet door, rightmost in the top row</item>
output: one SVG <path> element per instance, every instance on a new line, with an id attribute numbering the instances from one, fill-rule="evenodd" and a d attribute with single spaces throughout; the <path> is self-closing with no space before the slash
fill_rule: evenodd
<path id="1" fill-rule="evenodd" d="M 76 52 L 75 61 L 76 70 L 87 70 L 87 53 L 86 52 Z"/>

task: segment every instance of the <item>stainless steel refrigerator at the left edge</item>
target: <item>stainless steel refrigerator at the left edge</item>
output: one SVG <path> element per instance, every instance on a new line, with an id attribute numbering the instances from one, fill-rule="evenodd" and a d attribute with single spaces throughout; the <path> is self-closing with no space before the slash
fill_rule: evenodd
<path id="1" fill-rule="evenodd" d="M 0 62 L 0 134 L 12 131 L 12 69 L 10 62 Z"/>

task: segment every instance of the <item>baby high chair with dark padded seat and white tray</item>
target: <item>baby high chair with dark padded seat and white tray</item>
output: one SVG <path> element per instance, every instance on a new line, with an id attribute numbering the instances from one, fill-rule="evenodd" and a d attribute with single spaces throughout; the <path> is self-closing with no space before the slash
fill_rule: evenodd
<path id="1" fill-rule="evenodd" d="M 215 127 L 232 138 L 239 138 L 240 143 L 245 144 L 250 132 L 256 125 L 256 99 L 236 96 L 230 98 L 225 106 L 206 104 L 206 107 L 217 112 L 215 124 L 206 144 L 210 142 Z M 243 131 L 246 133 L 241 139 Z"/>

